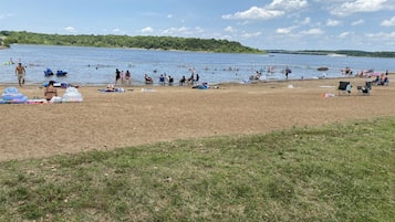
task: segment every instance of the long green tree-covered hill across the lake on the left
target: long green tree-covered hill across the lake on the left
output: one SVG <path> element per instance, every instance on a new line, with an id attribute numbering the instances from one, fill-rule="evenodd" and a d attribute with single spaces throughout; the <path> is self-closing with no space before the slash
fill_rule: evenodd
<path id="1" fill-rule="evenodd" d="M 60 35 L 33 33 L 25 31 L 0 31 L 0 38 L 2 39 L 3 45 L 19 43 L 97 47 L 135 47 L 147 50 L 179 50 L 224 53 L 264 53 L 261 50 L 248 47 L 235 41 L 197 38 L 93 34 Z"/>

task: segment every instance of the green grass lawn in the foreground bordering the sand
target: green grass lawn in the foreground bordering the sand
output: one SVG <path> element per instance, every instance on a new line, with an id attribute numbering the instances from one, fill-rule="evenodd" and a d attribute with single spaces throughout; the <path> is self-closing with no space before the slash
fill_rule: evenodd
<path id="1" fill-rule="evenodd" d="M 395 118 L 0 162 L 0 221 L 393 221 Z"/>

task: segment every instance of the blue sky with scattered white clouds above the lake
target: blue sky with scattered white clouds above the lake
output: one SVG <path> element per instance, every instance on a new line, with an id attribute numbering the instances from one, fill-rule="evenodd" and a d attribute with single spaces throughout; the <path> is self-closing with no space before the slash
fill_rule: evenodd
<path id="1" fill-rule="evenodd" d="M 2 0 L 0 30 L 395 51 L 395 0 Z"/>

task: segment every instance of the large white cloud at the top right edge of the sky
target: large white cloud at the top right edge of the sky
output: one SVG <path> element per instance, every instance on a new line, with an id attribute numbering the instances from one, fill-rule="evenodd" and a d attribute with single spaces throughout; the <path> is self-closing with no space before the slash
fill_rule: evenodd
<path id="1" fill-rule="evenodd" d="M 387 0 L 353 0 L 336 6 L 331 13 L 346 17 L 357 12 L 375 12 L 385 9 L 386 2 Z"/>

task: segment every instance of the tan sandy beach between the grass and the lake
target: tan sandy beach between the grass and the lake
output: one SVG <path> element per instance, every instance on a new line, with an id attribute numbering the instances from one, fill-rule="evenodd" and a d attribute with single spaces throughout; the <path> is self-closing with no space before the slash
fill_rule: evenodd
<path id="1" fill-rule="evenodd" d="M 350 78 L 352 95 L 337 96 L 339 81 L 226 84 L 218 89 L 148 86 L 155 92 L 136 86 L 125 87 L 125 93 L 100 93 L 101 87 L 83 86 L 79 89 L 83 103 L 0 105 L 0 161 L 216 135 L 264 134 L 395 114 L 392 85 L 374 86 L 370 96 L 362 96 L 356 86 L 366 80 Z M 19 91 L 29 98 L 43 94 L 37 85 Z M 59 93 L 63 95 L 64 89 Z M 323 98 L 324 93 L 336 96 Z"/>

